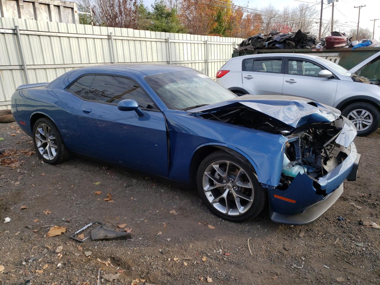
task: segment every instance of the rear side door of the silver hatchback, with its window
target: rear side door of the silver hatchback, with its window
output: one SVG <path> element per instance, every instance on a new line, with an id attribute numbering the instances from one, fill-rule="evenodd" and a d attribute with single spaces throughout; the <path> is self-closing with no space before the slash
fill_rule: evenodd
<path id="1" fill-rule="evenodd" d="M 282 59 L 246 59 L 243 63 L 243 88 L 251 95 L 281 95 Z"/>

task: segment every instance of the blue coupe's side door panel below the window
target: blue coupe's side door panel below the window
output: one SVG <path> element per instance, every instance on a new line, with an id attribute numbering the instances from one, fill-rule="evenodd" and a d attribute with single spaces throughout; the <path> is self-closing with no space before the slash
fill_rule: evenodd
<path id="1" fill-rule="evenodd" d="M 82 153 L 160 176 L 168 176 L 165 118 L 161 112 L 120 111 L 84 101 L 79 108 Z"/>

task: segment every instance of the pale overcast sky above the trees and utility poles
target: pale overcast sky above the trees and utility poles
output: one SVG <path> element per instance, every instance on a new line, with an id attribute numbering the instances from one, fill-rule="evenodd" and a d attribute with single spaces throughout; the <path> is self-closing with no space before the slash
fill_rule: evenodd
<path id="1" fill-rule="evenodd" d="M 336 0 L 337 1 L 337 0 Z M 143 0 L 144 4 L 150 6 L 154 0 Z M 234 4 L 245 6 L 247 5 L 247 1 L 244 0 L 233 0 Z M 320 11 L 320 0 L 303 0 L 303 2 L 310 2 L 310 5 L 313 3 L 319 3 L 318 11 Z M 271 4 L 277 9 L 282 9 L 285 6 L 298 6 L 299 1 L 296 0 L 249 0 L 248 7 L 259 9 L 263 6 L 268 6 Z M 323 16 L 322 19 L 329 21 L 331 18 L 331 5 L 327 5 L 327 0 L 324 0 L 323 5 Z M 339 20 L 340 23 L 347 26 L 346 30 L 349 30 L 352 27 L 356 27 L 358 23 L 358 8 L 354 8 L 354 6 L 366 5 L 366 7 L 361 8 L 360 10 L 360 25 L 361 28 L 369 28 L 372 32 L 374 28 L 374 21 L 370 21 L 371 19 L 380 18 L 380 0 L 339 0 L 335 2 L 334 9 L 334 19 Z M 326 8 L 326 6 L 329 6 Z M 319 18 L 318 16 L 316 16 Z M 350 26 L 350 27 L 348 27 Z M 375 38 L 379 40 L 380 37 L 380 20 L 375 22 Z M 338 30 L 343 27 L 336 27 L 334 30 Z M 307 32 L 307 31 L 304 31 Z"/>

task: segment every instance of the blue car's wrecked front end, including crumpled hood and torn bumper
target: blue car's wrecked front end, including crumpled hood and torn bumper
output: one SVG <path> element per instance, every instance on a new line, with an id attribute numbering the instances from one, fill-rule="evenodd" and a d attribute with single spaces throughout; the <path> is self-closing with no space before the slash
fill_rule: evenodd
<path id="1" fill-rule="evenodd" d="M 313 101 L 255 98 L 195 115 L 287 138 L 278 184 L 262 183 L 271 218 L 285 224 L 313 222 L 342 194 L 345 179 L 356 180 L 356 128 L 339 111 Z"/>

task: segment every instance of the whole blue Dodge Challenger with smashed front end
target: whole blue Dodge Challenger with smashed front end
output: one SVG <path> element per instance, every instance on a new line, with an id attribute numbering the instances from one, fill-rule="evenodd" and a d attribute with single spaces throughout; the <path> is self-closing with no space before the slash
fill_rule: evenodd
<path id="1" fill-rule="evenodd" d="M 270 84 L 270 82 L 268 82 Z M 298 97 L 237 97 L 193 69 L 100 65 L 19 86 L 16 122 L 37 154 L 79 153 L 196 185 L 206 206 L 239 222 L 260 213 L 285 224 L 320 217 L 356 180 L 355 126 Z"/>

